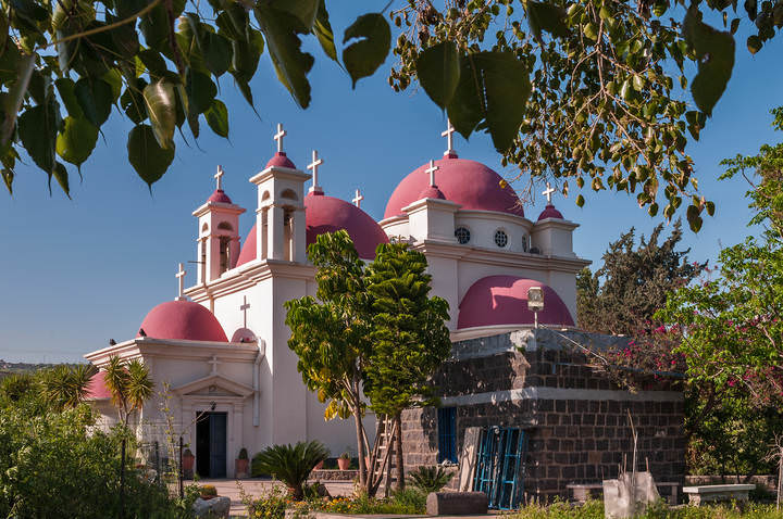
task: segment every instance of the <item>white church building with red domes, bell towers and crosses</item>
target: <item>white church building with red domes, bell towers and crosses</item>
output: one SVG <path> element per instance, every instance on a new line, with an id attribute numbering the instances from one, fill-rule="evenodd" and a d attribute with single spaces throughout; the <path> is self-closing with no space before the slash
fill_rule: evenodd
<path id="1" fill-rule="evenodd" d="M 351 202 L 328 194 L 319 182 L 324 161 L 316 151 L 300 169 L 284 151 L 281 125 L 274 135 L 276 153 L 248 178 L 258 202 L 247 233 L 239 229 L 239 215 L 247 208 L 232 202 L 219 166 L 216 189 L 192 213 L 195 284 L 185 287 L 179 264 L 174 301 L 154 306 L 136 337 L 85 355 L 99 368 L 114 355 L 140 358 L 149 367 L 161 394 L 140 412 L 139 434 L 161 438 L 165 404 L 177 434 L 196 456 L 196 470 L 212 478 L 234 477 L 241 448 L 252 456 L 272 444 L 319 440 L 337 456 L 355 445 L 351 420 L 324 421 L 324 405 L 304 388 L 287 345 L 284 303 L 315 294 L 307 246 L 323 232 L 345 229 L 366 261 L 391 238 L 423 252 L 431 293 L 449 303 L 448 328 L 456 345 L 475 350 L 496 344 L 483 341 L 530 330 L 536 319 L 540 326 L 574 330 L 575 278 L 589 263 L 573 251 L 579 225 L 555 208 L 551 188 L 545 191 L 544 212 L 525 215 L 500 175 L 458 156 L 452 132 L 449 125 L 443 134 L 448 143 L 443 157 L 401 176 L 380 221 L 362 211 L 359 191 Z M 534 315 L 527 293 L 536 287 L 545 306 Z M 103 371 L 95 376 L 90 392 L 105 420 L 114 420 Z M 456 396 L 450 402 L 459 405 Z M 196 425 L 199 413 L 203 419 Z M 459 419 L 455 415 L 453 423 Z M 451 434 L 460 440 L 451 448 L 459 450 L 463 431 L 453 427 Z M 437 427 L 431 429 L 419 432 L 432 440 L 435 452 Z M 443 459 L 435 454 L 432 461 Z"/>

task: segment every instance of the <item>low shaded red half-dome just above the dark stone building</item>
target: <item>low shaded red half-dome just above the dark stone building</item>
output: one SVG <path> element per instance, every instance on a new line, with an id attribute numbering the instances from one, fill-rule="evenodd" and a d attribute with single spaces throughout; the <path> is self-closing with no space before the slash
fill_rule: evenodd
<path id="1" fill-rule="evenodd" d="M 487 276 L 473 283 L 462 298 L 457 328 L 532 325 L 535 319 L 533 312 L 527 309 L 527 289 L 531 287 L 544 289 L 544 312 L 538 313 L 538 322 L 574 326 L 566 303 L 551 287 L 515 276 Z"/>

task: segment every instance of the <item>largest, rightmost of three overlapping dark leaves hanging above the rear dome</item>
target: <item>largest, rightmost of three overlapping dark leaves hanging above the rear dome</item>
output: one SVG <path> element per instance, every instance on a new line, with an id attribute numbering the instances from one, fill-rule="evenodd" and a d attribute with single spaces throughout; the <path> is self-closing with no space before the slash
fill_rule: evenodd
<path id="1" fill-rule="evenodd" d="M 506 152 L 519 134 L 531 92 L 527 67 L 510 52 L 476 56 L 484 76 L 486 123 L 495 149 Z"/>

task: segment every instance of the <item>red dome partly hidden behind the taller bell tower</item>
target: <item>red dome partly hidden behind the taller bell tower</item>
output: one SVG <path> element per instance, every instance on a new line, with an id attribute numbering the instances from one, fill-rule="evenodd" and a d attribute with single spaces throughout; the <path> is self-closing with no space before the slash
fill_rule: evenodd
<path id="1" fill-rule="evenodd" d="M 388 237 L 372 216 L 351 203 L 323 193 L 304 197 L 304 219 L 308 245 L 315 242 L 319 235 L 345 229 L 353 240 L 359 257 L 372 260 L 375 257 L 375 248 L 388 243 Z M 256 260 L 256 239 L 253 225 L 239 252 L 237 267 Z"/>

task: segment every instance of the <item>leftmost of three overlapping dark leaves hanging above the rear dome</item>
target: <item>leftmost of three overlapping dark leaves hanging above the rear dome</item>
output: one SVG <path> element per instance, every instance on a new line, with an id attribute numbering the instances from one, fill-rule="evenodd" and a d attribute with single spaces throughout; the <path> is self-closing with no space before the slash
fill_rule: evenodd
<path id="1" fill-rule="evenodd" d="M 419 83 L 440 109 L 451 102 L 460 78 L 460 58 L 457 46 L 444 41 L 430 47 L 417 60 Z"/>

